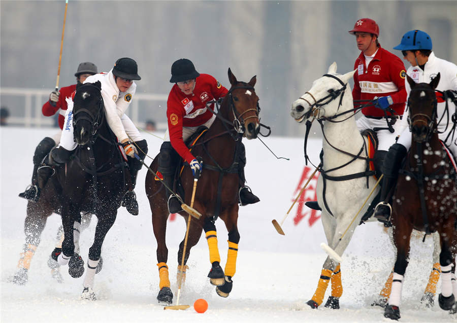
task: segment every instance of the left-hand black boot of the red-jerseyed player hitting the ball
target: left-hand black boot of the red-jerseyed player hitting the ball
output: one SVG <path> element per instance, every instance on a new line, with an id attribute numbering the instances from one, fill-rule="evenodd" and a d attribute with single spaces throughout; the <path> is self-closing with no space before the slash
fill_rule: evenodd
<path id="1" fill-rule="evenodd" d="M 160 154 L 158 156 L 157 171 L 164 176 L 164 184 L 168 187 L 165 188 L 166 199 L 168 203 L 168 211 L 170 213 L 178 213 L 182 210 L 181 202 L 179 199 L 172 195 L 170 190 L 173 190 L 173 182 L 175 175 L 175 160 L 177 153 L 173 149 L 170 141 L 165 141 L 160 147 Z"/>

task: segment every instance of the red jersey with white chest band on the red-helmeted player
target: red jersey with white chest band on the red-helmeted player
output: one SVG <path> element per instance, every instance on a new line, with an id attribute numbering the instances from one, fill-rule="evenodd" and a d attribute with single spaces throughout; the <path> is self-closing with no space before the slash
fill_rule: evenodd
<path id="1" fill-rule="evenodd" d="M 375 96 L 390 95 L 394 101 L 390 108 L 396 115 L 403 115 L 406 102 L 406 70 L 400 58 L 379 47 L 368 66 L 365 64 L 365 55 L 361 52 L 355 60 L 354 69 L 354 100 L 372 100 Z M 372 117 L 384 116 L 384 111 L 374 105 L 364 107 L 362 113 Z"/>

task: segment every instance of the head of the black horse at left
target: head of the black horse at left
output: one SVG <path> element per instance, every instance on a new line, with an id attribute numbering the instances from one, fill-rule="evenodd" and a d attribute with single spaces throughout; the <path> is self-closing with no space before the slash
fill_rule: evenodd
<path id="1" fill-rule="evenodd" d="M 73 98 L 73 135 L 78 145 L 86 145 L 101 125 L 103 118 L 102 85 L 100 81 L 84 83 Z"/>

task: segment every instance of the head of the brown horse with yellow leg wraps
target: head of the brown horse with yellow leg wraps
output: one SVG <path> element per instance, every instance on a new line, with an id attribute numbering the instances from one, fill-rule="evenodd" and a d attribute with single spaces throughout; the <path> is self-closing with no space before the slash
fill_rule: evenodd
<path id="1" fill-rule="evenodd" d="M 233 122 L 237 132 L 243 133 L 243 136 L 248 139 L 255 139 L 260 130 L 258 119 L 260 107 L 254 90 L 257 78 L 253 76 L 248 83 L 238 82 L 232 70 L 228 68 L 228 80 L 232 87 L 226 97 L 232 114 L 229 112 L 230 115 L 227 118 Z"/>

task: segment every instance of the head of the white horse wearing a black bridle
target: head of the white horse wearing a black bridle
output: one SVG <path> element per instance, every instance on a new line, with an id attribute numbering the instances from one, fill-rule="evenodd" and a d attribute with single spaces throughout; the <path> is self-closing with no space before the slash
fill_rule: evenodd
<path id="1" fill-rule="evenodd" d="M 343 99 L 352 101 L 352 96 L 344 95 L 349 92 L 347 82 L 355 73 L 355 70 L 345 75 L 336 74 L 337 64 L 330 65 L 327 74 L 315 80 L 311 89 L 292 103 L 290 115 L 297 121 L 305 119 L 331 117 L 338 113 Z M 339 98 L 339 99 L 337 99 Z"/>

